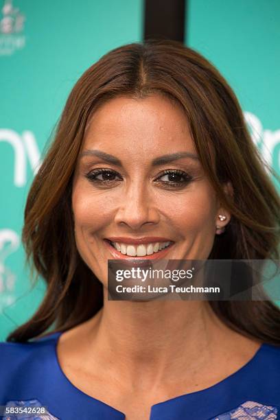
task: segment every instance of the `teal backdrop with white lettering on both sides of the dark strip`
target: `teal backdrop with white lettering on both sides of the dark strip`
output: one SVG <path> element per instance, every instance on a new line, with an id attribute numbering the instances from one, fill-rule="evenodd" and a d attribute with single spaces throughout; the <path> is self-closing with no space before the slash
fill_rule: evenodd
<path id="1" fill-rule="evenodd" d="M 27 192 L 73 84 L 143 36 L 142 0 L 0 0 L 0 340 L 35 312 L 21 245 Z M 253 140 L 280 174 L 280 3 L 189 0 L 185 42 L 220 69 Z M 274 180 L 277 188 L 279 184 Z M 280 189 L 280 188 L 279 188 Z"/>

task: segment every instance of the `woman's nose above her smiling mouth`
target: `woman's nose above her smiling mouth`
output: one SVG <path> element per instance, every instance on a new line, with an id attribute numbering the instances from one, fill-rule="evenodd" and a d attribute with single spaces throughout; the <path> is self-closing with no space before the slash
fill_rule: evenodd
<path id="1" fill-rule="evenodd" d="M 159 223 L 159 209 L 143 179 L 142 182 L 132 184 L 119 197 L 120 205 L 115 215 L 115 223 L 126 224 L 133 231 L 141 229 L 143 224 Z"/>

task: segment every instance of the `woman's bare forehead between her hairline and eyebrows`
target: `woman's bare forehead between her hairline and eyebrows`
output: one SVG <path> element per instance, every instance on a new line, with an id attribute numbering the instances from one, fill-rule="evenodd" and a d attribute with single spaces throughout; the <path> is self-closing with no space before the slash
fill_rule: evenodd
<path id="1" fill-rule="evenodd" d="M 183 109 L 161 95 L 116 97 L 100 106 L 84 136 L 82 150 L 91 148 L 129 152 L 138 158 L 139 153 L 195 151 Z"/>

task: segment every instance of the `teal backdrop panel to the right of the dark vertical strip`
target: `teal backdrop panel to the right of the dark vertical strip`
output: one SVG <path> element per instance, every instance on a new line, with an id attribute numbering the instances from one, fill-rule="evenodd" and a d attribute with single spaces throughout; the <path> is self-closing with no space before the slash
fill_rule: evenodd
<path id="1" fill-rule="evenodd" d="M 188 46 L 220 70 L 244 113 L 257 117 L 256 143 L 280 174 L 280 1 L 188 3 Z"/>

